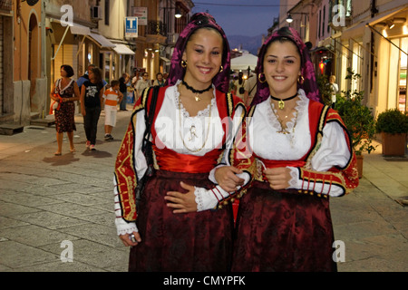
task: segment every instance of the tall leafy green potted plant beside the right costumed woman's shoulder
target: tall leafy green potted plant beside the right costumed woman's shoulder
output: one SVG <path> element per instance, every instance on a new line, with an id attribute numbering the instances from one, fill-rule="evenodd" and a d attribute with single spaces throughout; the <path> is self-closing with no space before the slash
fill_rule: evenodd
<path id="1" fill-rule="evenodd" d="M 356 80 L 361 76 L 347 69 L 346 79 Z M 347 131 L 350 134 L 352 147 L 357 157 L 358 177 L 363 177 L 363 153 L 370 154 L 377 146 L 373 145 L 375 137 L 375 119 L 372 111 L 366 107 L 362 101 L 364 92 L 362 91 L 343 91 L 338 94 L 335 104 L 335 110 L 345 122 Z"/>

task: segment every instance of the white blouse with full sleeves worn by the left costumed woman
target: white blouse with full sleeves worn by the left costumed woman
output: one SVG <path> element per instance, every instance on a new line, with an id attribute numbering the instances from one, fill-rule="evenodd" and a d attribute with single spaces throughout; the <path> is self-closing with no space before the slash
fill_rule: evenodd
<path id="1" fill-rule="evenodd" d="M 174 150 L 180 154 L 189 154 L 196 156 L 204 156 L 215 148 L 221 148 L 222 140 L 224 137 L 224 130 L 222 128 L 222 121 L 219 118 L 219 109 L 216 101 L 216 90 L 213 85 L 214 98 L 211 100 L 209 106 L 199 111 L 197 116 L 189 116 L 189 112 L 180 103 L 180 92 L 178 90 L 181 81 L 176 82 L 175 85 L 167 88 L 165 96 L 160 107 L 160 111 L 156 117 L 154 123 L 154 129 L 157 132 L 157 140 L 154 140 L 154 144 L 160 149 L 160 144 L 163 144 L 170 150 Z M 244 114 L 244 108 L 239 106 L 232 119 L 233 129 L 231 134 L 236 133 L 239 125 L 242 121 L 242 115 Z M 134 157 L 135 157 L 135 169 L 138 178 L 141 178 L 147 169 L 146 159 L 141 151 L 142 136 L 146 129 L 144 121 L 145 111 L 138 111 L 136 114 L 136 128 L 134 139 Z M 227 139 L 227 150 L 230 148 L 233 142 L 233 138 Z M 226 155 L 226 154 L 224 154 Z M 227 157 L 224 156 L 226 159 Z M 119 196 L 117 191 L 116 180 L 114 182 L 114 202 L 116 219 L 115 224 L 117 227 L 118 235 L 137 232 L 135 223 L 128 223 L 123 218 L 120 218 L 121 207 L 119 202 Z M 220 189 L 220 187 L 219 187 Z M 196 189 L 196 200 L 199 204 L 199 208 L 214 208 L 217 203 L 211 199 L 209 201 L 210 206 L 206 201 L 201 200 L 199 195 L 200 190 Z M 228 194 L 224 192 L 225 194 Z M 211 193 L 212 194 L 212 193 Z M 217 200 L 214 196 L 213 198 Z M 217 200 L 218 202 L 218 200 Z M 203 210 L 203 209 L 202 209 Z"/>

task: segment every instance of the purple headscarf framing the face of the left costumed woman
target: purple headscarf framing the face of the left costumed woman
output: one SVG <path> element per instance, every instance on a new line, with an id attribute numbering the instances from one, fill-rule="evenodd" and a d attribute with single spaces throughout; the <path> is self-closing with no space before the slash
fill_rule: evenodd
<path id="1" fill-rule="evenodd" d="M 181 67 L 181 58 L 183 56 L 186 45 L 189 42 L 189 37 L 194 34 L 199 28 L 211 27 L 219 32 L 223 39 L 223 52 L 221 65 L 223 71 L 217 73 L 217 75 L 212 79 L 215 87 L 221 92 L 228 92 L 228 80 L 230 71 L 230 53 L 229 44 L 227 36 L 216 23 L 215 19 L 207 13 L 196 13 L 192 15 L 189 24 L 183 29 L 179 35 L 176 46 L 174 48 L 173 56 L 171 57 L 171 66 L 169 77 L 166 80 L 166 84 L 174 85 L 178 80 L 181 80 L 184 76 L 185 69 Z"/>

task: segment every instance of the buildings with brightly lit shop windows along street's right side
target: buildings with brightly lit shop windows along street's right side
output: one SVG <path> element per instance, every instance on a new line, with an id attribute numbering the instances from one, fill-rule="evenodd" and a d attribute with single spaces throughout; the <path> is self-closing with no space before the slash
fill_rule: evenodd
<path id="1" fill-rule="evenodd" d="M 406 1 L 295 2 L 281 1 L 287 9 L 285 14 L 281 11 L 279 24 L 287 24 L 287 14 L 304 13 L 293 14 L 294 21 L 288 25 L 311 43 L 316 72 L 334 74 L 342 91 L 364 91 L 364 102 L 373 109 L 374 116 L 393 108 L 406 111 Z M 310 10 L 307 6 L 311 6 Z M 301 16 L 304 18 L 300 19 Z M 345 79 L 347 68 L 361 78 Z"/>

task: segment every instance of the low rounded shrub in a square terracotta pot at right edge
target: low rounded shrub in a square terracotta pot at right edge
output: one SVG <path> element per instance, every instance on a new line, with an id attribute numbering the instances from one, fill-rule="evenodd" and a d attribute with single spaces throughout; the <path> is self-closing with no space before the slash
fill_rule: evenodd
<path id="1" fill-rule="evenodd" d="M 404 156 L 408 114 L 398 109 L 389 109 L 378 114 L 375 129 L 381 133 L 384 156 Z"/>

